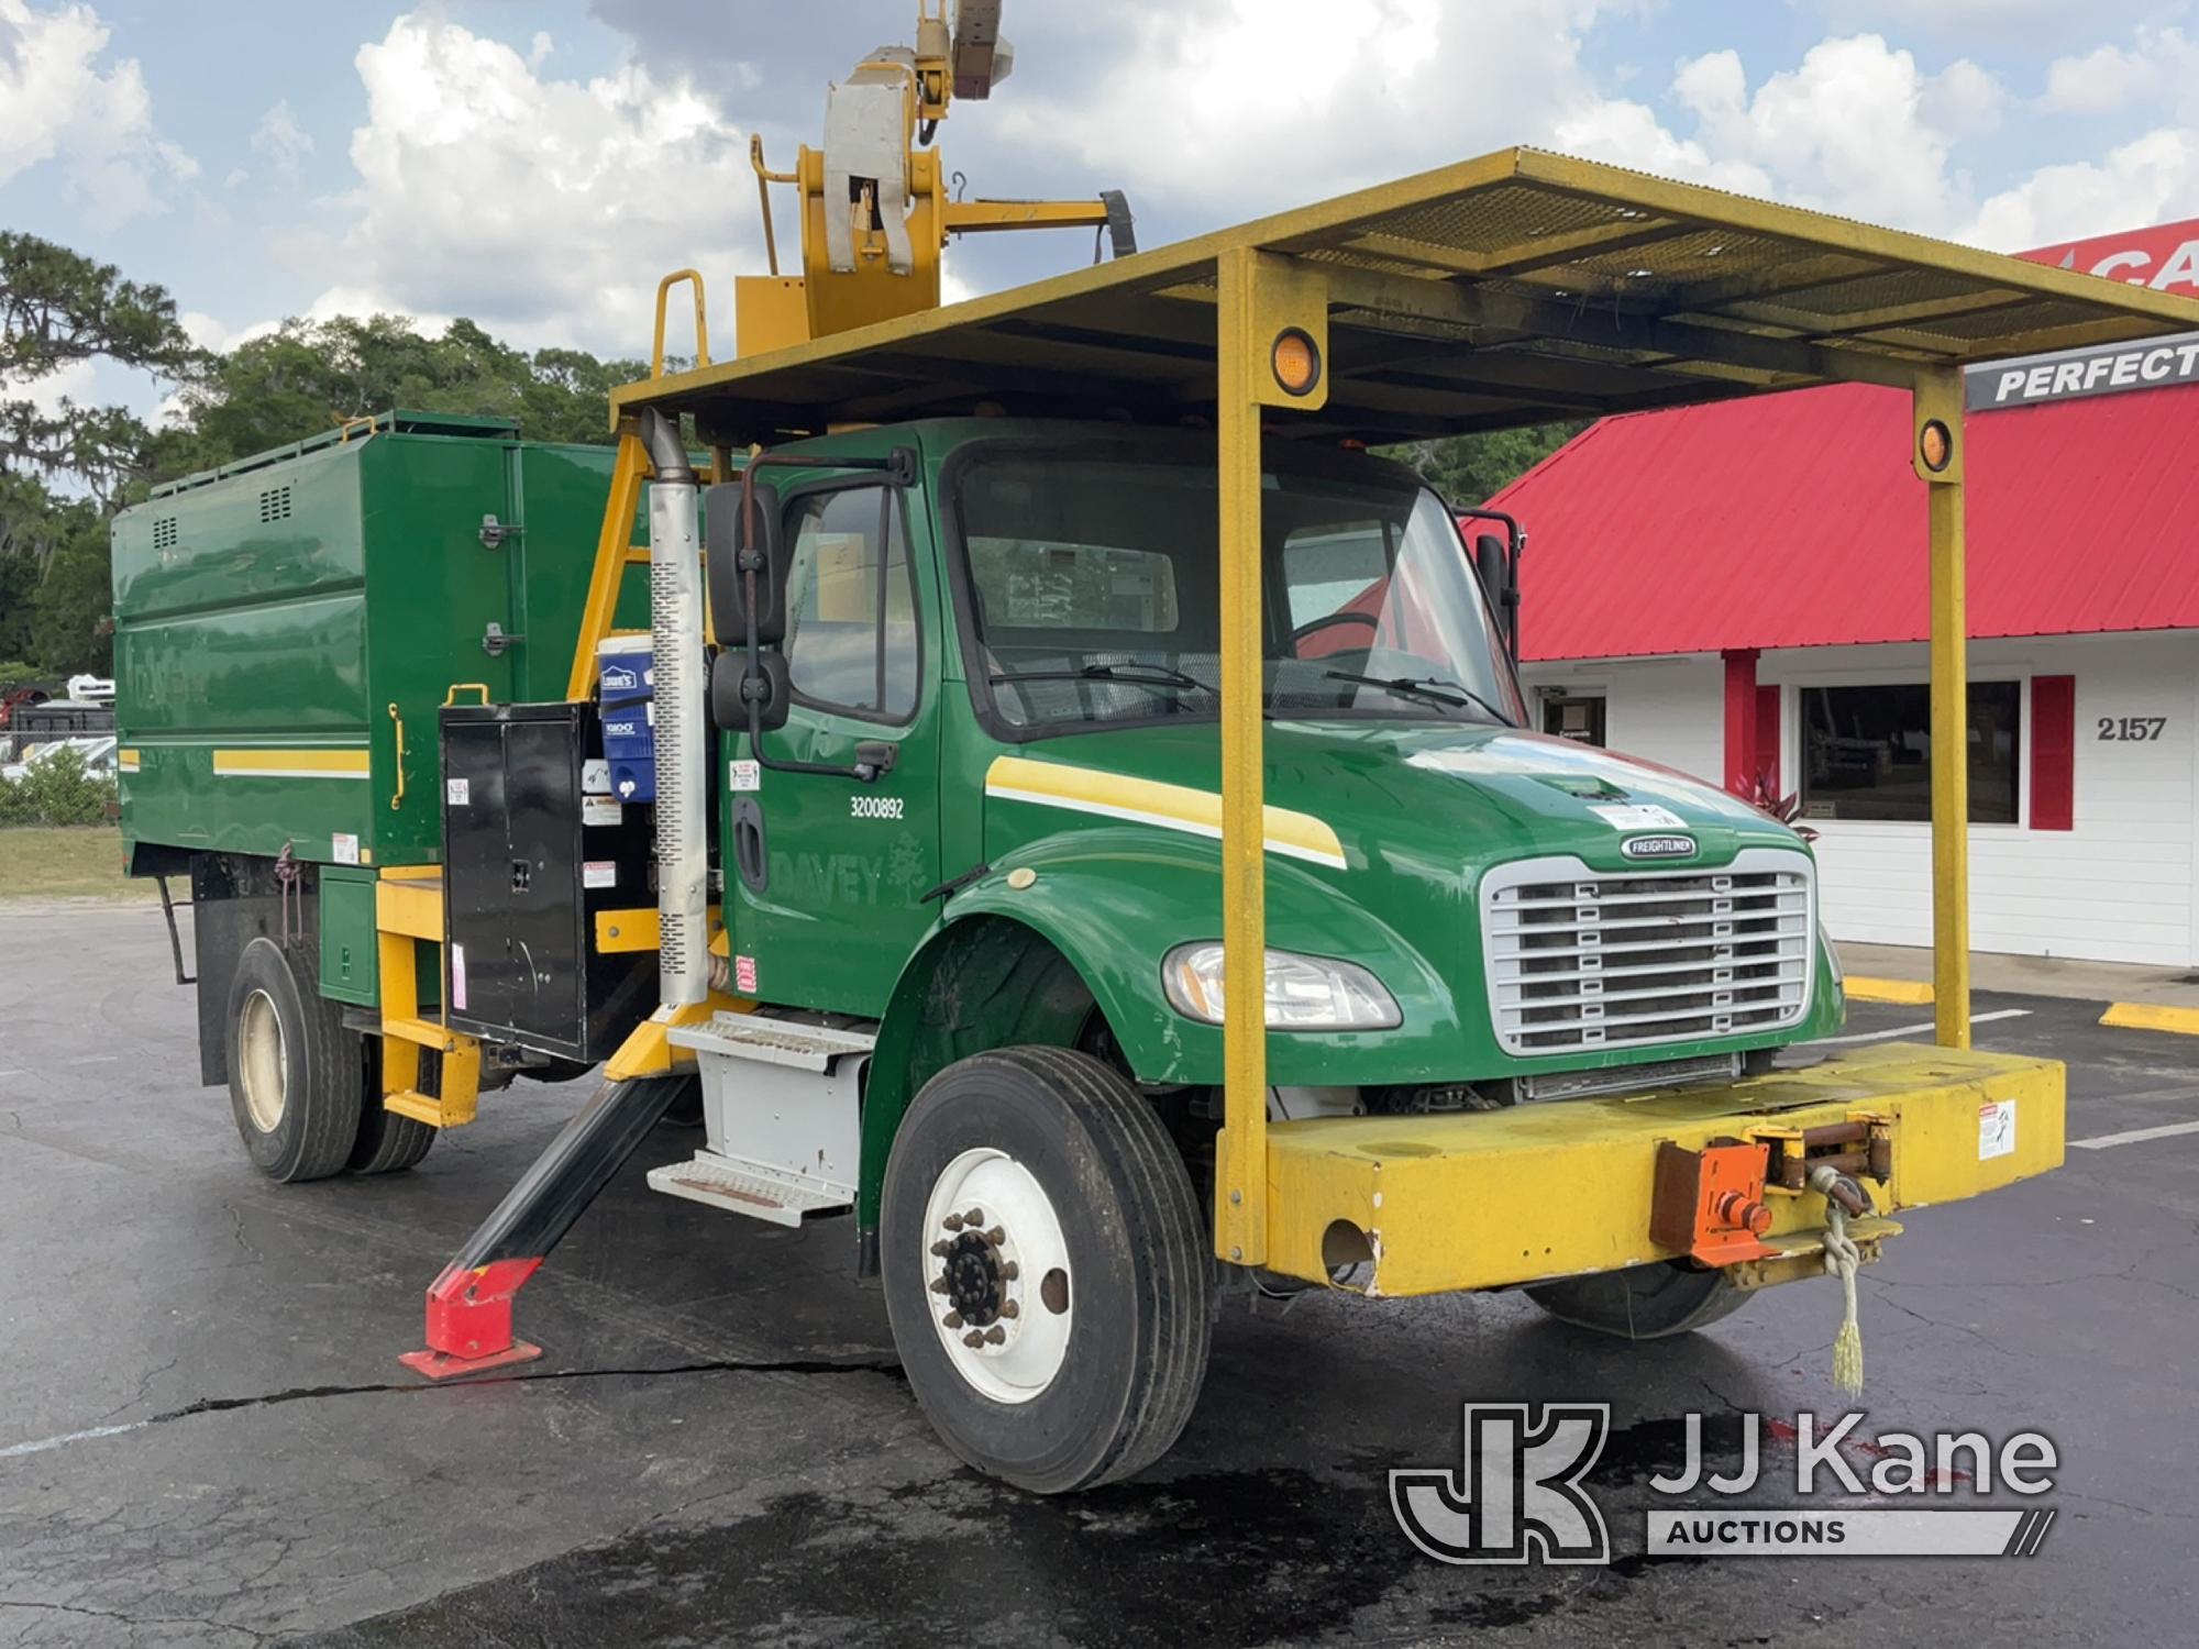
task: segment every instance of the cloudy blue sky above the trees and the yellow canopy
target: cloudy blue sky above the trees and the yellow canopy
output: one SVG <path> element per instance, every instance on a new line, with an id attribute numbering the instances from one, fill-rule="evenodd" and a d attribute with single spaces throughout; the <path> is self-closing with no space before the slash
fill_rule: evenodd
<path id="1" fill-rule="evenodd" d="M 979 196 L 1126 189 L 1139 244 L 1537 143 L 1994 248 L 2199 215 L 2195 0 L 1018 0 Z M 748 136 L 913 0 L 0 0 L 0 224 L 174 292 L 640 354 L 660 273 L 763 266 Z M 783 222 L 789 220 L 781 204 Z M 968 242 L 950 290 L 1067 268 Z M 79 372 L 42 398 L 158 400 Z"/>

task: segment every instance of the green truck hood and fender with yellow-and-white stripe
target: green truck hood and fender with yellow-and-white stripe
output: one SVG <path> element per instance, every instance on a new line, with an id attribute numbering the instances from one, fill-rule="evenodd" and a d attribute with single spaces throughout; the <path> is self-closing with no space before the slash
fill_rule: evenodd
<path id="1" fill-rule="evenodd" d="M 985 857 L 994 868 L 1027 864 L 1038 879 L 1025 895 L 957 901 L 957 912 L 996 908 L 1040 926 L 1095 983 L 1126 1047 L 1143 1044 L 1137 1069 L 1157 1080 L 1218 1075 L 1218 1033 L 1159 1000 L 1165 950 L 1220 932 L 1218 776 L 1214 723 L 1025 743 L 987 778 Z M 1625 1064 L 1772 1047 L 1838 1022 L 1838 994 L 1814 959 L 1821 989 L 1808 1022 L 1788 1031 L 1537 1058 L 1498 1049 L 1480 939 L 1480 879 L 1493 866 L 1572 855 L 1599 873 L 1640 873 L 1717 868 L 1753 846 L 1808 851 L 1788 827 L 1684 774 L 1513 728 L 1271 721 L 1267 807 L 1269 945 L 1368 967 L 1405 1020 L 1392 1031 L 1273 1036 L 1275 1082 Z M 1625 842 L 1640 838 L 1665 849 L 1687 838 L 1695 851 L 1629 857 Z"/>

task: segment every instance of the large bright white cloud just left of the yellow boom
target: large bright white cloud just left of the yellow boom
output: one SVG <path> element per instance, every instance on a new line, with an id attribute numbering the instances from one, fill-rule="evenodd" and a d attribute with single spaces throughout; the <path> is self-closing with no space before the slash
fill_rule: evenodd
<path id="1" fill-rule="evenodd" d="M 638 354 L 658 277 L 686 264 L 726 314 L 734 270 L 761 264 L 745 134 L 636 64 L 541 77 L 545 44 L 530 62 L 422 7 L 358 51 L 358 187 L 310 314 L 464 314 L 528 347 Z"/>

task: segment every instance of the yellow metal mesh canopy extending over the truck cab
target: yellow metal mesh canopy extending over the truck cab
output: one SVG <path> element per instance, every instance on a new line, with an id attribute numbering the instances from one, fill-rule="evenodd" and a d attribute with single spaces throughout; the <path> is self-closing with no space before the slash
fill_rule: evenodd
<path id="1" fill-rule="evenodd" d="M 717 442 L 990 409 L 1179 422 L 1216 400 L 1216 268 L 1328 286 L 1313 438 L 1676 407 L 2199 328 L 2199 303 L 1537 150 L 611 396 Z"/>

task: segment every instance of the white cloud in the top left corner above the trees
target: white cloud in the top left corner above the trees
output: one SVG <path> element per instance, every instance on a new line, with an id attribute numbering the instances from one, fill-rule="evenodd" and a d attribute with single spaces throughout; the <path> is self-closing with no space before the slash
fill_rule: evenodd
<path id="1" fill-rule="evenodd" d="M 152 95 L 134 57 L 99 68 L 108 26 L 86 4 L 51 11 L 0 0 L 0 185 L 59 161 L 95 229 L 167 211 L 163 191 L 198 163 L 152 123 Z"/>

